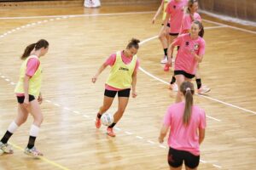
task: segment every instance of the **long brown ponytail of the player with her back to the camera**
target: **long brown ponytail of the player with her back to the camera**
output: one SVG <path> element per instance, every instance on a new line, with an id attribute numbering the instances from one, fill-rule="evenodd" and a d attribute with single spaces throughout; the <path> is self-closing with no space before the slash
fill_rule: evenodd
<path id="1" fill-rule="evenodd" d="M 194 85 L 191 82 L 183 82 L 180 91 L 185 96 L 185 109 L 183 112 L 183 124 L 188 125 L 192 114 Z"/>

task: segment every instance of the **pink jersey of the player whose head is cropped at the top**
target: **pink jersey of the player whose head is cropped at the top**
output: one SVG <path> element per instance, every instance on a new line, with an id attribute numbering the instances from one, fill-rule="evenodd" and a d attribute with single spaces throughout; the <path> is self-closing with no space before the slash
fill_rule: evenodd
<path id="1" fill-rule="evenodd" d="M 184 8 L 186 7 L 187 3 L 188 0 L 181 0 L 178 3 L 175 0 L 171 0 L 171 2 L 168 3 L 166 13 L 171 15 L 170 33 L 179 33 L 183 20 Z"/>

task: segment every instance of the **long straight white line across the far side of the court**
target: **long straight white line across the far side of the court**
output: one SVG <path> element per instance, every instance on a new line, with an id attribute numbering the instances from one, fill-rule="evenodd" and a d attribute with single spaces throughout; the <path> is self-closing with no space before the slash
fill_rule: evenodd
<path id="1" fill-rule="evenodd" d="M 86 16 L 114 16 L 114 15 L 129 15 L 129 14 L 154 14 L 155 11 L 146 12 L 130 12 L 130 13 L 108 13 L 108 14 L 67 14 L 67 15 L 49 15 L 49 16 L 21 16 L 21 17 L 1 17 L 0 20 L 23 20 L 23 19 L 45 19 L 45 18 L 77 18 Z"/>

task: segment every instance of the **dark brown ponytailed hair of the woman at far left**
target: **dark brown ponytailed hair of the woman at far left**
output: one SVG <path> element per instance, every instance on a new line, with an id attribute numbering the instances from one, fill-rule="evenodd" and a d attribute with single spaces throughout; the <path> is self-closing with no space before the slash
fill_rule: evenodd
<path id="1" fill-rule="evenodd" d="M 29 46 L 26 47 L 24 50 L 24 53 L 21 55 L 20 59 L 25 60 L 32 52 L 32 50 L 35 48 L 35 50 L 38 50 L 40 48 L 48 48 L 49 42 L 47 42 L 44 39 L 39 40 L 37 43 L 32 43 Z"/>

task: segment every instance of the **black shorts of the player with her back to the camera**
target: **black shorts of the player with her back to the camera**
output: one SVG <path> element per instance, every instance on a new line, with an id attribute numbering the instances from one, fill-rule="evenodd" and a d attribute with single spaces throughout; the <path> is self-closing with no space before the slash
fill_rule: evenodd
<path id="1" fill-rule="evenodd" d="M 175 150 L 170 147 L 168 154 L 169 165 L 171 167 L 180 167 L 183 165 L 183 161 L 187 167 L 194 169 L 199 165 L 200 156 L 195 156 L 189 151 Z"/>

